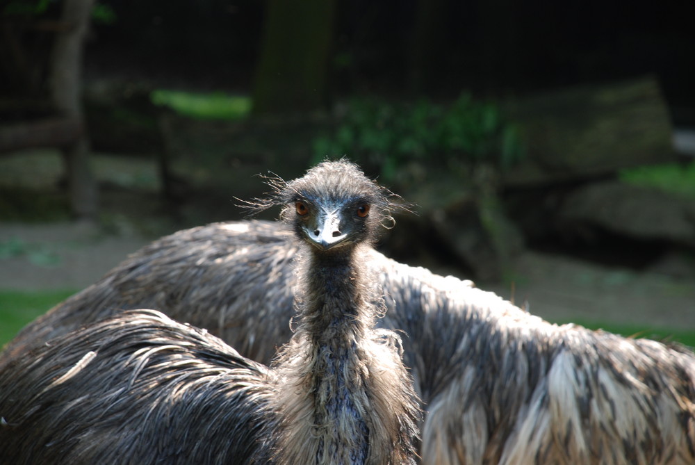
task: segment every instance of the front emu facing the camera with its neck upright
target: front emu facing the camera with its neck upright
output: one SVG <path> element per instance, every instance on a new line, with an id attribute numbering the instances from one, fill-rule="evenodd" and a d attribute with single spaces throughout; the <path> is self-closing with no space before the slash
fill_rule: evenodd
<path id="1" fill-rule="evenodd" d="M 363 266 L 388 191 L 347 161 L 274 187 L 256 208 L 283 205 L 301 252 L 272 368 L 157 311 L 115 313 L 3 366 L 1 462 L 415 463 L 418 400 Z"/>

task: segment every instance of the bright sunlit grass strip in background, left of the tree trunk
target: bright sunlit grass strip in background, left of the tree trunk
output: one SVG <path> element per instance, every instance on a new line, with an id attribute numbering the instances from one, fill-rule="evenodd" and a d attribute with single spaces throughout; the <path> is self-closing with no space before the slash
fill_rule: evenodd
<path id="1" fill-rule="evenodd" d="M 154 90 L 155 105 L 169 106 L 177 113 L 201 120 L 241 120 L 251 111 L 251 97 L 224 92 L 198 93 L 180 90 Z"/>

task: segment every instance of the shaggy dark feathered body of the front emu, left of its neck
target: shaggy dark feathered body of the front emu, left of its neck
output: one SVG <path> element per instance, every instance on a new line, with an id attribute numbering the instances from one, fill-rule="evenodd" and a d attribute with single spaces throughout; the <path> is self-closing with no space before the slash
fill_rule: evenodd
<path id="1" fill-rule="evenodd" d="M 250 462 L 274 382 L 204 330 L 125 312 L 0 372 L 0 463 Z"/>

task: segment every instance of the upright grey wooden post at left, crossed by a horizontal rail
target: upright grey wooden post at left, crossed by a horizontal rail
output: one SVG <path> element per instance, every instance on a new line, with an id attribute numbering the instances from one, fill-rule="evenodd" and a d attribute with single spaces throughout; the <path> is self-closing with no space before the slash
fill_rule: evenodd
<path id="1" fill-rule="evenodd" d="M 51 100 L 60 115 L 83 120 L 81 73 L 84 38 L 88 31 L 94 0 L 63 0 L 61 21 L 70 28 L 56 35 L 51 54 L 49 85 Z M 63 147 L 70 186 L 70 203 L 79 218 L 97 213 L 97 186 L 90 168 L 90 147 L 86 132 Z"/>

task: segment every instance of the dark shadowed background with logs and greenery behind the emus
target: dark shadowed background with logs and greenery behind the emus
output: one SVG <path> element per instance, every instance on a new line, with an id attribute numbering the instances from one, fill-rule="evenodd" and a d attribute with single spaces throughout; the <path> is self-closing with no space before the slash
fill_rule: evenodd
<path id="1" fill-rule="evenodd" d="M 690 341 L 693 17 L 1 0 L 0 342 L 149 240 L 244 218 L 256 174 L 338 156 L 414 204 L 379 244 L 394 258 L 553 321 Z"/>

